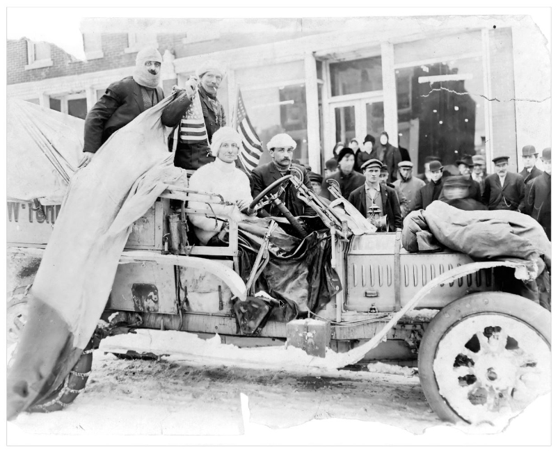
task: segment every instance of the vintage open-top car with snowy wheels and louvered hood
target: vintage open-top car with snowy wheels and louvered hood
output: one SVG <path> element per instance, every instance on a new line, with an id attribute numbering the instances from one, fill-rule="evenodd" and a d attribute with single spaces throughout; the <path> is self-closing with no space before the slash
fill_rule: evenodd
<path id="1" fill-rule="evenodd" d="M 440 419 L 452 422 L 509 419 L 550 391 L 550 313 L 531 300 L 500 291 L 493 277 L 497 266 L 511 266 L 516 275 L 526 277 L 521 264 L 475 262 L 447 249 L 407 252 L 400 231 L 379 232 L 342 197 L 324 204 L 296 175 L 279 179 L 250 208 L 280 204 L 288 184 L 320 221 L 289 214 L 288 221 L 267 220 L 251 268 L 241 268 L 237 223 L 228 223 L 225 245 L 196 245 L 188 232 L 189 216 L 214 212 L 209 204 L 205 210 L 189 209 L 192 191 L 168 187 L 134 223 L 99 334 L 151 328 L 200 337 L 218 333 L 222 341 L 239 346 L 286 341 L 317 357 L 329 348 L 340 357 L 340 367 L 374 360 L 410 366 L 418 362 L 429 404 Z M 224 203 L 216 195 L 204 196 L 208 203 Z M 170 207 L 172 199 L 182 201 L 177 211 Z M 8 203 L 8 265 L 18 282 L 8 287 L 8 342 L 17 342 L 25 323 L 24 293 L 33 283 L 57 211 Z M 285 300 L 256 296 L 256 281 L 265 277 L 277 225 L 295 237 L 308 235 L 314 225 L 330 243 L 324 261 L 338 279 L 330 281 L 335 294 L 318 312 L 308 309 L 305 300 L 296 300 L 298 318 L 281 319 L 269 313 L 279 307 L 285 314 Z M 242 303 L 262 298 L 267 308 L 260 303 L 250 317 Z M 126 351 L 122 357 L 148 352 Z M 57 410 L 70 403 L 85 386 L 91 356 L 84 354 L 58 391 L 32 410 Z"/>

